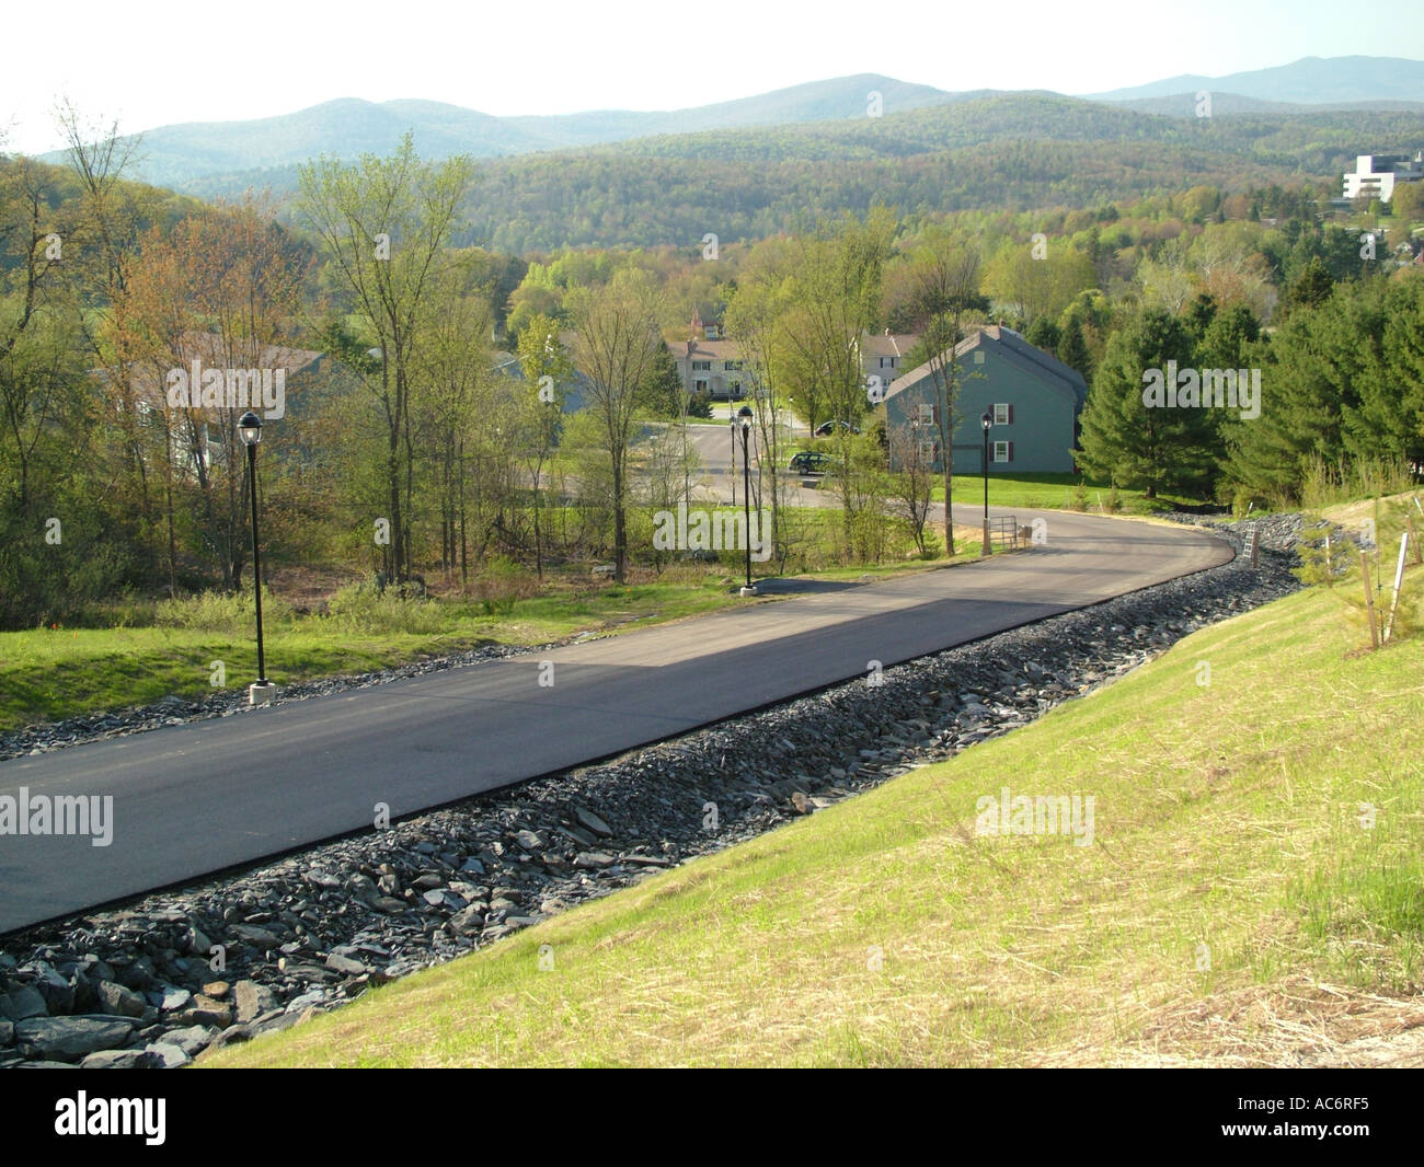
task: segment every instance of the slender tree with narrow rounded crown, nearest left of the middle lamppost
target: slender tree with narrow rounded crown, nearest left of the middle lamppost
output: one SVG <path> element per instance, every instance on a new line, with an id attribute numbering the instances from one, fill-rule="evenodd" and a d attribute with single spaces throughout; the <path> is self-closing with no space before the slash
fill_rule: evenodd
<path id="1" fill-rule="evenodd" d="M 588 376 L 588 411 L 607 458 L 614 515 L 614 578 L 628 575 L 628 447 L 642 390 L 664 347 L 656 299 L 644 272 L 621 269 L 601 287 L 572 287 L 575 363 Z"/>

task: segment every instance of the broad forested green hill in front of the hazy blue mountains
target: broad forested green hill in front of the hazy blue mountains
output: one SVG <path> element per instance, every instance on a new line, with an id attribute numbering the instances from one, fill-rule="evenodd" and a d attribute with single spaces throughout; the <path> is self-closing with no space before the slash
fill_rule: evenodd
<path id="1" fill-rule="evenodd" d="M 807 125 L 715 130 L 491 158 L 460 243 L 691 246 L 795 231 L 864 211 L 1095 206 L 1200 184 L 1316 181 L 1334 194 L 1363 149 L 1424 141 L 1424 111 L 1162 117 L 1052 94 L 995 94 Z M 279 195 L 296 167 L 195 181 L 201 196 L 248 185 Z"/>

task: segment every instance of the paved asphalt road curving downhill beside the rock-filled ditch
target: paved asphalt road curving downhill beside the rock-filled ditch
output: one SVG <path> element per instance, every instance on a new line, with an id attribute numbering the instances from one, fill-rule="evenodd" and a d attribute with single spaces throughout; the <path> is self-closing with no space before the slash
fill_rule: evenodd
<path id="1" fill-rule="evenodd" d="M 1199 531 L 1042 518 L 1047 545 L 1024 554 L 0 763 L 0 796 L 114 800 L 108 847 L 0 835 L 0 932 L 370 827 L 376 803 L 410 814 L 1232 556 Z"/>

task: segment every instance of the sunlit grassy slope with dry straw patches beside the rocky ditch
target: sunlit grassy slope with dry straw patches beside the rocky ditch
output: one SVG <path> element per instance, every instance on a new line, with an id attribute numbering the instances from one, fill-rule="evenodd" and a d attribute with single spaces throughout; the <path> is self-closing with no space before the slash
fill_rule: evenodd
<path id="1" fill-rule="evenodd" d="M 1202 630 L 948 763 L 206 1060 L 1270 1063 L 1329 1046 L 1356 1005 L 1424 979 L 1424 646 L 1360 653 L 1346 616 L 1312 591 Z M 977 835 L 977 800 L 1002 787 L 1091 796 L 1092 844 Z"/>

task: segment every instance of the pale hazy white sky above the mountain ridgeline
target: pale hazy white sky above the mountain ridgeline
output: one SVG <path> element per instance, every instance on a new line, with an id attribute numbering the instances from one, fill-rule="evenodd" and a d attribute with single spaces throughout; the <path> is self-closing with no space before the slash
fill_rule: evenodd
<path id="1" fill-rule="evenodd" d="M 124 131 L 335 97 L 488 114 L 674 110 L 881 73 L 943 90 L 1096 93 L 1300 57 L 1420 57 L 1424 4 L 1377 0 L 70 0 L 28 9 L 0 73 L 4 148 L 58 145 L 67 95 Z"/>

